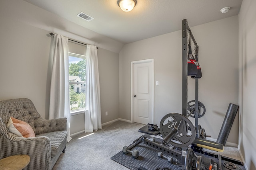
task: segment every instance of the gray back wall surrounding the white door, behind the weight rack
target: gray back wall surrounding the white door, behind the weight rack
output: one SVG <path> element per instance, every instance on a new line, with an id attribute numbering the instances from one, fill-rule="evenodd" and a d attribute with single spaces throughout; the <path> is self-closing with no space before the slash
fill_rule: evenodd
<path id="1" fill-rule="evenodd" d="M 188 21 L 189 24 L 189 21 Z M 182 26 L 182 25 L 180 25 Z M 228 104 L 238 104 L 238 16 L 196 27 L 192 33 L 199 45 L 199 100 L 206 115 L 199 124 L 217 139 Z M 131 119 L 130 62 L 154 58 L 154 123 L 164 115 L 182 110 L 182 34 L 176 31 L 126 44 L 119 53 L 120 118 Z M 188 78 L 188 101 L 194 100 L 194 80 Z M 194 121 L 193 119 L 191 119 Z M 238 116 L 228 142 L 238 144 Z"/>

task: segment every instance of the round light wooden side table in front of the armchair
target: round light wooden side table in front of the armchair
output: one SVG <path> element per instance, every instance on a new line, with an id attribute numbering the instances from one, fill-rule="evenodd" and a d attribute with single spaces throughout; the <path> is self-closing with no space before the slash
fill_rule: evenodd
<path id="1" fill-rule="evenodd" d="M 26 154 L 9 156 L 0 160 L 0 170 L 22 170 L 30 162 Z"/>

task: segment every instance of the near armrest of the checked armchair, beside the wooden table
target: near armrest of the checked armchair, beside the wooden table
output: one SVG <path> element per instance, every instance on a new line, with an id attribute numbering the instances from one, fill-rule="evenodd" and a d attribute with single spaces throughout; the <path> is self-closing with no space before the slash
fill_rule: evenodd
<path id="1" fill-rule="evenodd" d="M 26 168 L 38 169 L 38 167 L 48 167 L 51 162 L 51 145 L 48 137 L 18 137 L 13 133 L 6 136 L 0 135 L 0 159 L 16 154 L 27 154 L 30 156 L 30 163 Z"/>

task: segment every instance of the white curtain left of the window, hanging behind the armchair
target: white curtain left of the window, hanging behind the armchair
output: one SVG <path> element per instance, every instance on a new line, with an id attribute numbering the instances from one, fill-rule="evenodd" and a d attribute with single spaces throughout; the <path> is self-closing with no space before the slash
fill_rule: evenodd
<path id="1" fill-rule="evenodd" d="M 49 119 L 66 117 L 69 142 L 70 137 L 70 102 L 68 79 L 68 38 L 54 35 L 53 40 L 53 65 L 50 89 Z"/>

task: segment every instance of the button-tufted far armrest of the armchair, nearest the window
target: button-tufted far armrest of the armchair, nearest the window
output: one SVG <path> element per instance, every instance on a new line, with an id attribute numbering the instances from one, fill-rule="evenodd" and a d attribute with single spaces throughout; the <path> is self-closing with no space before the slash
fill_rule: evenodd
<path id="1" fill-rule="evenodd" d="M 58 118 L 46 120 L 42 117 L 35 121 L 35 134 L 40 135 L 42 133 L 48 133 L 53 131 L 67 130 L 67 118 Z"/>

